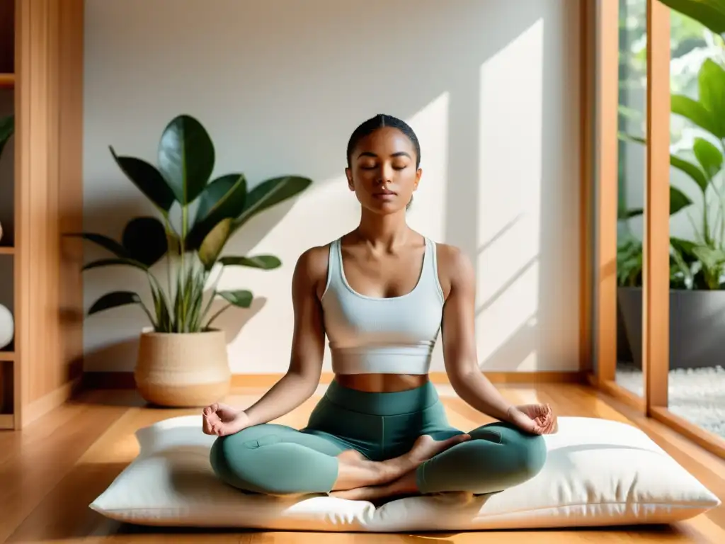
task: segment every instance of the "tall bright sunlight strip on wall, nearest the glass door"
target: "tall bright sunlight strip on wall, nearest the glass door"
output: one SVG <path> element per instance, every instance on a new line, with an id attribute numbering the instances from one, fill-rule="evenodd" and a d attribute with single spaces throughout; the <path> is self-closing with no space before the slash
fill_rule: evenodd
<path id="1" fill-rule="evenodd" d="M 539 300 L 543 51 L 539 19 L 480 70 L 476 330 L 487 370 L 536 364 L 525 354 L 537 347 L 529 320 Z"/>

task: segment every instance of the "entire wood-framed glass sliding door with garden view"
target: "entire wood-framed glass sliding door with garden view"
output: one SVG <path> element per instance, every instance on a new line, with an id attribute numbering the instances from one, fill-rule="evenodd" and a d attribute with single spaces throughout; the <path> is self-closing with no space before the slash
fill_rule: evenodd
<path id="1" fill-rule="evenodd" d="M 595 382 L 725 458 L 725 41 L 692 1 L 584 1 Z"/>

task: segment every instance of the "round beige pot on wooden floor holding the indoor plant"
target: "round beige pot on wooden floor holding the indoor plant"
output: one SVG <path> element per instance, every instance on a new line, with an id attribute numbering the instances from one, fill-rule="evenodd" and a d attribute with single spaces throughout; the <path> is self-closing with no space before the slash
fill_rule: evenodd
<path id="1" fill-rule="evenodd" d="M 154 405 L 198 407 L 221 400 L 231 388 L 224 331 L 144 330 L 134 377 L 138 392 Z"/>

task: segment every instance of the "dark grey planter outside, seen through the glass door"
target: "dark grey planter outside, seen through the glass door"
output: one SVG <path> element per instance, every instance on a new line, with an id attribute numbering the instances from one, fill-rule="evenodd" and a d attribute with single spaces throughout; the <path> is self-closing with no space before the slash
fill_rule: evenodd
<path id="1" fill-rule="evenodd" d="M 642 368 L 642 288 L 618 287 L 632 362 Z M 725 366 L 725 291 L 670 291 L 669 368 Z"/>

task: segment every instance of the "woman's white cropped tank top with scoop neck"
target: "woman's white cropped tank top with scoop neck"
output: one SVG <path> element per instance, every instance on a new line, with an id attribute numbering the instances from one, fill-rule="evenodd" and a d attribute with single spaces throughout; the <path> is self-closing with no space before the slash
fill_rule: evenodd
<path id="1" fill-rule="evenodd" d="M 423 268 L 413 291 L 378 298 L 349 286 L 340 240 L 335 240 L 321 302 L 335 374 L 427 374 L 444 303 L 436 244 L 426 238 Z"/>

